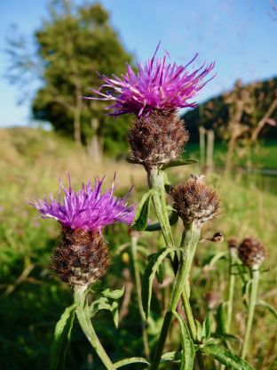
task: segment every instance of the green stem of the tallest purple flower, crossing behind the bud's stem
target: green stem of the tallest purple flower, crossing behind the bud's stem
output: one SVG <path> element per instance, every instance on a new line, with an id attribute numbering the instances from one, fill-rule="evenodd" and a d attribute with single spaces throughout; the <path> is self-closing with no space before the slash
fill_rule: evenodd
<path id="1" fill-rule="evenodd" d="M 164 195 L 164 177 L 163 171 L 156 167 L 147 168 L 147 180 L 149 189 L 154 189 L 154 195 L 152 197 L 154 203 L 154 209 L 158 217 L 158 221 L 161 225 L 162 235 L 164 237 L 165 244 L 167 246 L 174 245 L 174 240 L 171 234 L 170 222 L 167 216 L 166 201 Z M 174 269 L 175 275 L 178 269 L 178 256 L 177 253 L 170 253 L 170 260 Z M 194 321 L 192 309 L 189 304 L 189 299 L 186 294 L 186 289 L 181 294 L 182 303 L 186 312 L 187 325 L 189 332 L 193 338 L 193 341 L 197 341 L 197 331 Z M 201 370 L 204 369 L 202 353 L 197 350 L 196 357 Z"/>

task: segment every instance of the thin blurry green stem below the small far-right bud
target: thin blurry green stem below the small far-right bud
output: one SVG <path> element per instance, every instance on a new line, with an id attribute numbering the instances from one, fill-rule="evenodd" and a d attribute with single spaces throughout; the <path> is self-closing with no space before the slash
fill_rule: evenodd
<path id="1" fill-rule="evenodd" d="M 246 352 L 247 352 L 247 348 L 249 344 L 249 336 L 250 336 L 251 327 L 252 327 L 253 318 L 254 318 L 255 306 L 257 303 L 257 286 L 258 286 L 258 277 L 259 277 L 258 265 L 253 266 L 253 268 L 251 269 L 251 276 L 252 276 L 252 281 L 251 281 L 251 295 L 250 295 L 250 303 L 249 303 L 249 317 L 247 319 L 247 324 L 246 324 L 246 329 L 245 329 L 243 344 L 242 344 L 242 349 L 241 349 L 242 359 L 246 357 Z"/>

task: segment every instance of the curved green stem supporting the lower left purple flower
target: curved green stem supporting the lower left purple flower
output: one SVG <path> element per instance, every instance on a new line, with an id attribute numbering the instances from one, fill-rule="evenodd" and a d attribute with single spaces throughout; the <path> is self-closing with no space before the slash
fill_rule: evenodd
<path id="1" fill-rule="evenodd" d="M 113 365 L 110 358 L 108 358 L 106 351 L 102 347 L 102 344 L 99 342 L 99 338 L 91 325 L 89 306 L 85 293 L 86 289 L 87 286 L 74 286 L 74 302 L 78 304 L 78 308 L 76 310 L 77 318 L 83 329 L 83 333 L 88 338 L 94 350 L 96 350 L 103 364 L 108 370 L 115 370 L 115 366 Z"/>

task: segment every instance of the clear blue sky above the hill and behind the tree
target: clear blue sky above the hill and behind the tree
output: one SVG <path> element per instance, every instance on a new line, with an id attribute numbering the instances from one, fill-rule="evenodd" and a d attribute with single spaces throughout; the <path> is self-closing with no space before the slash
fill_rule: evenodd
<path id="1" fill-rule="evenodd" d="M 77 4 L 82 4 L 76 0 Z M 92 3 L 90 1 L 89 3 Z M 218 75 L 199 95 L 202 102 L 243 82 L 277 76 L 277 21 L 267 12 L 269 0 L 103 0 L 111 23 L 125 48 L 136 60 L 152 57 L 162 40 L 171 60 L 186 64 L 195 53 L 195 67 L 216 60 Z M 32 36 L 47 18 L 49 0 L 9 0 L 0 4 L 0 126 L 32 125 L 31 100 L 22 105 L 19 87 L 4 78 L 9 60 L 4 53 L 6 36 L 17 24 L 22 34 Z M 277 2 L 275 1 L 275 5 Z M 277 14 L 276 14 L 277 18 Z M 36 81 L 33 82 L 36 86 Z"/>

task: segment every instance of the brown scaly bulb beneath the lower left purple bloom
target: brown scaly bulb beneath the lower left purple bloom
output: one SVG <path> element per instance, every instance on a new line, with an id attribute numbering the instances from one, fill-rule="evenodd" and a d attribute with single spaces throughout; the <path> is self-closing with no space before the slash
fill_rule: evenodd
<path id="1" fill-rule="evenodd" d="M 70 286 L 88 286 L 107 272 L 111 264 L 107 244 L 99 232 L 62 229 L 61 246 L 54 248 L 51 269 Z"/>

